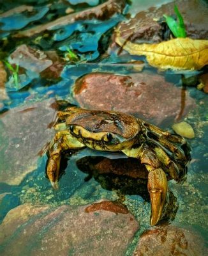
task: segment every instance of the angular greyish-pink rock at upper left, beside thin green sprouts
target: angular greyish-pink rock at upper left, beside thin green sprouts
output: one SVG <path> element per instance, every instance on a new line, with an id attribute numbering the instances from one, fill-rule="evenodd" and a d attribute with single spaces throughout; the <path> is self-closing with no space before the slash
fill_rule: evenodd
<path id="1" fill-rule="evenodd" d="M 25 44 L 20 45 L 10 55 L 10 63 L 19 65 L 33 72 L 40 73 L 52 65 L 47 55 L 38 49 L 33 49 Z"/>

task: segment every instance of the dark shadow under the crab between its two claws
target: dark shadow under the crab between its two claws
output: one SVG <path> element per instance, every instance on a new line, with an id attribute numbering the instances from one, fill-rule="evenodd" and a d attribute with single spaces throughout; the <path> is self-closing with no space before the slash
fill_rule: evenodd
<path id="1" fill-rule="evenodd" d="M 67 166 L 68 157 L 64 157 L 61 170 Z M 125 195 L 141 196 L 145 202 L 150 202 L 147 191 L 148 172 L 135 158 L 109 159 L 103 156 L 85 156 L 76 161 L 77 168 L 87 173 L 85 182 L 95 179 L 103 189 L 116 191 L 119 202 L 124 203 Z M 170 179 L 170 177 L 167 177 Z M 174 193 L 168 189 L 167 200 L 163 210 L 162 220 L 174 220 L 178 204 Z"/>

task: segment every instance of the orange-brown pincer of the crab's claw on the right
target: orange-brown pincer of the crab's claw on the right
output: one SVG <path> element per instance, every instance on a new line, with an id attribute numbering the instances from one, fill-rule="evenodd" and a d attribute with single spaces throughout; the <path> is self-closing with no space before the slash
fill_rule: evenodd
<path id="1" fill-rule="evenodd" d="M 167 177 L 161 168 L 149 172 L 147 188 L 151 198 L 151 225 L 154 226 L 161 218 L 168 188 Z"/>

